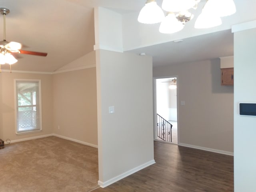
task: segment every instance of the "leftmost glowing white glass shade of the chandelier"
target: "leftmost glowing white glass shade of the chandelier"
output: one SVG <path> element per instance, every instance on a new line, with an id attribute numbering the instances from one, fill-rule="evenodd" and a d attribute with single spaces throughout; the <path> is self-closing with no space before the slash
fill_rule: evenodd
<path id="1" fill-rule="evenodd" d="M 147 2 L 138 16 L 138 22 L 144 24 L 160 23 L 163 19 L 164 12 L 155 1 Z"/>

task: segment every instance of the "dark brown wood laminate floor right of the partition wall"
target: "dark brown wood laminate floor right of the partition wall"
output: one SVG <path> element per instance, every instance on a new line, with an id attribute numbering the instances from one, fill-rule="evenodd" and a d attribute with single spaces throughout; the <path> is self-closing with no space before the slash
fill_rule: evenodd
<path id="1" fill-rule="evenodd" d="M 233 156 L 154 142 L 156 164 L 93 192 L 232 192 Z"/>

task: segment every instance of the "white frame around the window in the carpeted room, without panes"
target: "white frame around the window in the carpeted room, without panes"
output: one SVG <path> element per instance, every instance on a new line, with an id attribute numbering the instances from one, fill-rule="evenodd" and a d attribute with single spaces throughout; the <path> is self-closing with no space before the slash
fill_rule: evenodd
<path id="1" fill-rule="evenodd" d="M 39 101 L 39 128 L 32 130 L 18 130 L 18 119 L 17 119 L 17 112 L 18 112 L 18 93 L 17 93 L 17 82 L 36 82 L 38 83 L 38 99 Z M 40 79 L 14 79 L 14 108 L 15 108 L 15 132 L 16 134 L 29 134 L 42 131 L 42 102 L 41 102 L 41 80 Z"/>

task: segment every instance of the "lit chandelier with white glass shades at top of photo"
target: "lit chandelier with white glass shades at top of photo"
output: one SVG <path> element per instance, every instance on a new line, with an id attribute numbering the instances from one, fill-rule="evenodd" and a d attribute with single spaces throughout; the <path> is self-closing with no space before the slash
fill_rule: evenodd
<path id="1" fill-rule="evenodd" d="M 189 12 L 196 9 L 200 0 L 163 0 L 162 9 L 155 0 L 147 0 L 140 11 L 138 22 L 144 24 L 160 23 L 161 33 L 175 33 L 182 30 L 186 22 L 194 15 Z M 164 11 L 167 12 L 166 16 Z M 195 22 L 195 28 L 211 28 L 222 24 L 221 17 L 232 15 L 236 12 L 233 0 L 206 0 L 202 13 Z"/>

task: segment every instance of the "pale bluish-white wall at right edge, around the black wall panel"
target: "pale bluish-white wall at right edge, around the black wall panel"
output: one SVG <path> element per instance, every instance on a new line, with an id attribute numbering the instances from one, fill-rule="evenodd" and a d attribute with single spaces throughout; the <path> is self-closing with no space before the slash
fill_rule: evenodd
<path id="1" fill-rule="evenodd" d="M 234 33 L 234 191 L 256 191 L 256 117 L 240 116 L 239 102 L 256 103 L 256 26 Z"/>

